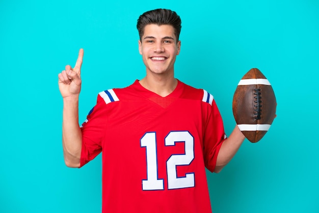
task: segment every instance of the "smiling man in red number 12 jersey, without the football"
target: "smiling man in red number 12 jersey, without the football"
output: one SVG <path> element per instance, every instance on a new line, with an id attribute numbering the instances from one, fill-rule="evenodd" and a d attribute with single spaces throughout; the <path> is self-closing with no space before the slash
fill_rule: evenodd
<path id="1" fill-rule="evenodd" d="M 102 151 L 102 212 L 211 212 L 205 167 L 220 172 L 245 137 L 226 137 L 212 95 L 174 77 L 180 51 L 179 16 L 166 9 L 138 19 L 141 81 L 98 94 L 78 125 L 83 49 L 59 74 L 63 150 L 68 167 Z"/>

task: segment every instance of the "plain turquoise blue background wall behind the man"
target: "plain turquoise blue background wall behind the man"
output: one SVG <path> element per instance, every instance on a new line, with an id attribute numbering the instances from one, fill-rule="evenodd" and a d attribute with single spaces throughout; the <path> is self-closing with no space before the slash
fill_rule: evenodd
<path id="1" fill-rule="evenodd" d="M 221 173 L 208 173 L 213 211 L 319 212 L 315 0 L 1 0 L 0 212 L 101 211 L 100 155 L 82 169 L 64 165 L 58 73 L 85 49 L 82 123 L 98 92 L 144 77 L 136 21 L 156 8 L 180 15 L 176 77 L 214 95 L 227 134 L 233 93 L 250 68 L 276 94 L 268 134 L 245 140 Z"/>

